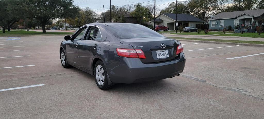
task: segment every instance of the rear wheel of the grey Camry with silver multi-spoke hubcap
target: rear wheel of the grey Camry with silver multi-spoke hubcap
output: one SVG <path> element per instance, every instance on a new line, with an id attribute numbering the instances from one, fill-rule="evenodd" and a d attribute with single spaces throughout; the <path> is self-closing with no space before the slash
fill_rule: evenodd
<path id="1" fill-rule="evenodd" d="M 101 90 L 112 88 L 113 85 L 108 85 L 107 71 L 102 61 L 97 61 L 93 70 L 95 83 Z"/>

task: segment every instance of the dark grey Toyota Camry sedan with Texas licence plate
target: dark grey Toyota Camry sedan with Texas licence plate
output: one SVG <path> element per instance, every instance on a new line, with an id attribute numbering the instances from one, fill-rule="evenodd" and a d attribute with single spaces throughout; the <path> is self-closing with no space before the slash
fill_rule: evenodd
<path id="1" fill-rule="evenodd" d="M 95 77 L 106 90 L 116 83 L 142 83 L 180 75 L 185 66 L 183 45 L 143 25 L 95 23 L 64 36 L 62 66 Z"/>

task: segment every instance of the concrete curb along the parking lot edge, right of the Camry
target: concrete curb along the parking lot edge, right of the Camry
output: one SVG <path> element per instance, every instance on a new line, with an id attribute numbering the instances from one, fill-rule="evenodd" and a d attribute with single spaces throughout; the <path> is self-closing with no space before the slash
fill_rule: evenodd
<path id="1" fill-rule="evenodd" d="M 177 39 L 177 40 L 180 40 L 180 41 L 189 41 L 189 42 L 201 42 L 201 43 L 216 43 L 216 44 L 245 45 L 245 46 L 254 46 L 254 47 L 264 47 L 263 44 L 230 43 L 230 42 L 216 42 L 216 41 L 203 41 L 203 40 L 186 40 L 186 39 Z"/>

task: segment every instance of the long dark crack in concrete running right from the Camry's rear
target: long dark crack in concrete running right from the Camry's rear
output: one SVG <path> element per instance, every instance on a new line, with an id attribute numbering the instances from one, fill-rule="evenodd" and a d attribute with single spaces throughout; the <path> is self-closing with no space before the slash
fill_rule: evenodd
<path id="1" fill-rule="evenodd" d="M 199 81 L 199 82 L 202 82 L 202 83 L 206 83 L 206 84 L 209 84 L 211 86 L 215 86 L 215 87 L 218 87 L 218 88 L 222 88 L 222 89 L 234 91 L 234 92 L 237 92 L 237 93 L 241 93 L 241 94 L 244 94 L 244 95 L 248 95 L 248 96 L 251 96 L 251 97 L 254 97 L 254 98 L 258 98 L 258 99 L 264 100 L 263 98 L 260 98 L 260 97 L 254 96 L 254 95 L 247 94 L 247 93 L 251 93 L 251 92 L 244 91 L 243 89 L 233 89 L 233 88 L 227 88 L 227 87 L 219 87 L 219 86 L 216 86 L 216 85 L 213 85 L 213 84 L 210 84 L 210 83 L 206 82 L 206 80 L 204 80 L 204 79 L 199 79 L 199 78 L 195 78 L 195 77 L 187 76 L 187 75 L 182 75 L 182 74 L 180 76 L 186 77 L 188 79 L 192 79 L 192 80 L 195 80 L 195 81 Z"/>

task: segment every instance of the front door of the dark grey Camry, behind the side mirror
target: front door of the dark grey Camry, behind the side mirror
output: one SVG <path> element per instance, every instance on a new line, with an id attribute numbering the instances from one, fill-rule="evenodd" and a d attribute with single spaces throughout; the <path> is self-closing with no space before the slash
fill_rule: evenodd
<path id="1" fill-rule="evenodd" d="M 78 56 L 78 45 L 81 43 L 83 34 L 87 26 L 80 28 L 75 32 L 71 38 L 66 43 L 66 56 L 67 62 L 72 63 L 73 65 L 80 66 L 79 56 Z"/>

